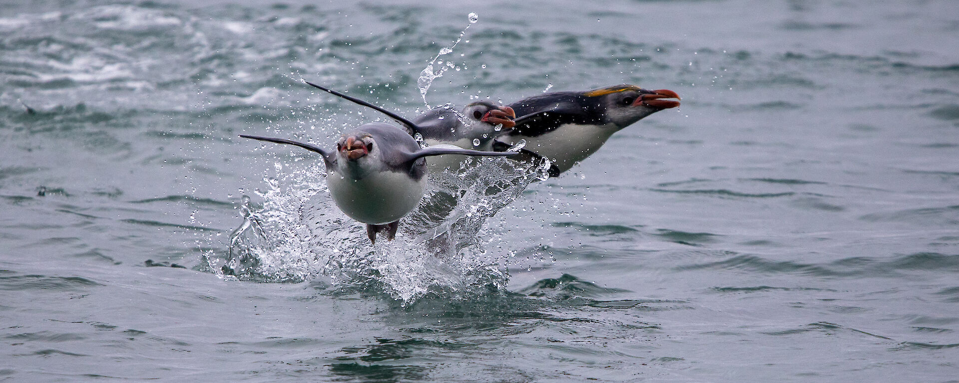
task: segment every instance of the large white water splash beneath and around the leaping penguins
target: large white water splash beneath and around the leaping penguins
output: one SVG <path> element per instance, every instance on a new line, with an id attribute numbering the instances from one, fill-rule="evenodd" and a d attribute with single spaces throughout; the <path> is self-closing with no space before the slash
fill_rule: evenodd
<path id="1" fill-rule="evenodd" d="M 392 241 L 371 245 L 363 224 L 333 204 L 318 167 L 267 178 L 262 207 L 244 198 L 243 223 L 228 253 L 205 257 L 224 278 L 302 282 L 324 276 L 334 285 L 386 291 L 404 304 L 430 295 L 468 297 L 503 291 L 508 254 L 490 253 L 496 240 L 486 221 L 548 177 L 549 164 L 504 158 L 469 159 L 458 171 L 430 173 L 430 191 L 400 221 Z M 288 170 L 289 171 L 289 170 Z"/>

